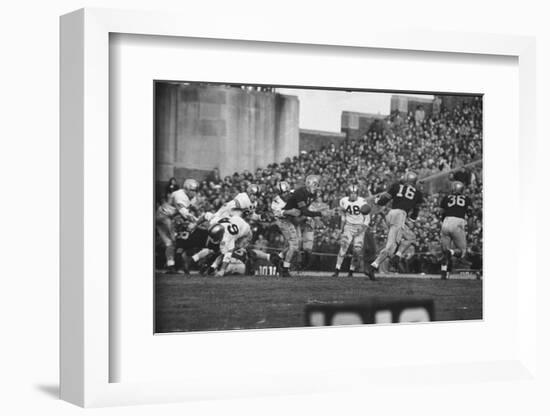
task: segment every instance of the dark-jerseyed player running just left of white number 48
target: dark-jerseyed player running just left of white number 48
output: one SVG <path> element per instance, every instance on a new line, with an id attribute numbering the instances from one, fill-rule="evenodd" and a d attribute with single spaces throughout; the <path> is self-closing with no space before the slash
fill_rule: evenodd
<path id="1" fill-rule="evenodd" d="M 284 215 L 278 220 L 277 225 L 287 242 L 288 248 L 285 250 L 286 252 L 284 254 L 281 277 L 290 277 L 290 264 L 294 254 L 297 253 L 300 247 L 300 239 L 296 227 L 299 226 L 304 219 L 329 215 L 328 210 L 316 212 L 309 209 L 309 205 L 313 202 L 319 186 L 319 176 L 307 176 L 305 186 L 290 193 L 285 206 L 282 208 Z"/>

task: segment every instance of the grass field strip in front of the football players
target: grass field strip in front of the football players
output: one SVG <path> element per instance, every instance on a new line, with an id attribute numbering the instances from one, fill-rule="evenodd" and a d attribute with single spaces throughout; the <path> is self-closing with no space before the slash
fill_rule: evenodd
<path id="1" fill-rule="evenodd" d="M 363 276 L 227 276 L 158 273 L 156 332 L 210 331 L 304 326 L 308 302 L 354 302 L 371 296 L 429 298 L 438 321 L 481 319 L 482 281 Z"/>

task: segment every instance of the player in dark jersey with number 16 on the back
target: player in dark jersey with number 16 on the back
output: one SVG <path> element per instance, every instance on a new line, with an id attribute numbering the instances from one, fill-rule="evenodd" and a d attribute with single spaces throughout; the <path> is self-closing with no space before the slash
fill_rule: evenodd
<path id="1" fill-rule="evenodd" d="M 386 246 L 365 271 L 371 280 L 375 279 L 374 273 L 378 270 L 378 266 L 395 253 L 397 245 L 403 238 L 403 233 L 410 234 L 412 232 L 405 228 L 405 221 L 407 219 L 412 222 L 416 221 L 419 206 L 423 202 L 422 192 L 416 188 L 417 179 L 418 176 L 415 172 L 407 172 L 401 181 L 394 183 L 387 192 L 375 198 L 375 203 L 379 206 L 384 206 L 391 200 L 392 207 L 386 215 L 388 224 Z"/>

